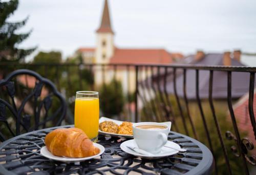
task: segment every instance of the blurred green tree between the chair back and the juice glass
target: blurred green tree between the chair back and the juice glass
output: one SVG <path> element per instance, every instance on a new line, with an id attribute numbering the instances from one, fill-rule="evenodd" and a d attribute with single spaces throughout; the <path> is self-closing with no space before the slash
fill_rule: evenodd
<path id="1" fill-rule="evenodd" d="M 28 69 L 34 70 L 40 75 L 50 79 L 57 86 L 58 90 L 65 93 L 66 100 L 69 103 L 69 115 L 74 113 L 74 97 L 76 91 L 90 91 L 93 88 L 93 74 L 82 64 L 73 64 L 80 62 L 79 55 L 76 57 L 63 60 L 61 53 L 58 51 L 39 52 L 33 59 L 33 67 Z M 60 65 L 71 63 L 70 65 Z M 72 116 L 73 117 L 73 116 Z"/>

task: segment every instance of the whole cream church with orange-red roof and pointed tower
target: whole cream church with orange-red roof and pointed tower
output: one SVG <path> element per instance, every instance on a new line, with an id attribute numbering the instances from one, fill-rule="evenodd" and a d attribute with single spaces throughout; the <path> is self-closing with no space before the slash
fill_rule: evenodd
<path id="1" fill-rule="evenodd" d="M 127 31 L 129 32 L 129 31 Z M 76 55 L 81 54 L 84 63 L 161 63 L 170 64 L 175 60 L 183 58 L 180 53 L 170 53 L 165 49 L 127 49 L 119 48 L 114 43 L 114 32 L 111 26 L 108 1 L 105 0 L 102 12 L 100 27 L 96 31 L 96 46 L 93 48 L 81 47 L 76 51 Z M 135 89 L 135 71 L 130 70 L 130 91 Z M 117 77 L 122 81 L 123 87 L 127 86 L 126 70 L 118 70 Z M 102 83 L 101 69 L 97 70 L 95 75 L 95 84 Z M 105 81 L 111 80 L 111 75 L 105 77 Z"/>

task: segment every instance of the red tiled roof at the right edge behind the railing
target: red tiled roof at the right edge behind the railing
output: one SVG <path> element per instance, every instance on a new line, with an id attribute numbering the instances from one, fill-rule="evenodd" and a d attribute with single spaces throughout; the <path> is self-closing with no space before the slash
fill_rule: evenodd
<path id="1" fill-rule="evenodd" d="M 249 94 L 246 93 L 242 96 L 236 104 L 233 105 L 234 116 L 237 120 L 239 130 L 247 133 L 247 137 L 252 141 L 253 145 L 256 145 L 256 133 L 253 132 L 250 115 L 248 111 Z M 253 111 L 256 115 L 256 89 L 254 89 L 253 96 Z M 256 154 L 256 150 L 253 150 L 253 154 Z"/>

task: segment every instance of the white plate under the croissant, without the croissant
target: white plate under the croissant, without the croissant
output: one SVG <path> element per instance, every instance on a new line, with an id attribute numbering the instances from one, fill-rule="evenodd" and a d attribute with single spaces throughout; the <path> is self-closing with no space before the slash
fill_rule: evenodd
<path id="1" fill-rule="evenodd" d="M 66 163 L 72 163 L 72 162 L 82 162 L 82 161 L 85 161 L 85 160 L 89 160 L 89 159 L 93 159 L 93 158 L 96 158 L 98 156 L 100 156 L 105 148 L 98 144 L 98 143 L 93 143 L 93 145 L 97 148 L 100 149 L 99 151 L 99 154 L 95 155 L 95 156 L 90 156 L 90 157 L 85 157 L 85 158 L 68 158 L 68 157 L 60 157 L 60 156 L 54 156 L 48 149 L 46 146 L 42 147 L 40 149 L 40 153 L 42 156 L 46 157 L 46 158 L 49 158 L 49 159 L 52 159 L 52 160 L 56 160 L 56 161 L 60 161 L 60 162 L 66 162 Z"/>

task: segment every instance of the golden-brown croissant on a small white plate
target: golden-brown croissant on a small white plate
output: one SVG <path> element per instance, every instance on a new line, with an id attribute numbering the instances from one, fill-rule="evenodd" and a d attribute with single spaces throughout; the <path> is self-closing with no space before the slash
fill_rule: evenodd
<path id="1" fill-rule="evenodd" d="M 99 148 L 78 128 L 59 128 L 46 135 L 48 150 L 55 156 L 83 158 L 99 153 Z"/>

